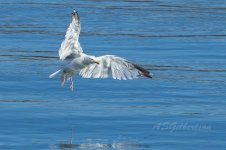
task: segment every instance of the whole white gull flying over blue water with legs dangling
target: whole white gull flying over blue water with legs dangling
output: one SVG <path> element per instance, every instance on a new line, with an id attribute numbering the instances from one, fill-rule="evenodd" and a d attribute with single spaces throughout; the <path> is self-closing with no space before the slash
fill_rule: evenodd
<path id="1" fill-rule="evenodd" d="M 56 75 L 60 75 L 62 86 L 65 81 L 71 81 L 70 89 L 73 91 L 72 77 L 77 74 L 83 78 L 112 77 L 118 80 L 132 80 L 139 76 L 152 78 L 152 74 L 148 70 L 124 58 L 115 55 L 95 57 L 85 54 L 78 40 L 80 31 L 81 25 L 78 12 L 73 11 L 72 22 L 59 49 L 60 59 L 69 60 L 70 62 L 49 76 L 53 78 Z"/>

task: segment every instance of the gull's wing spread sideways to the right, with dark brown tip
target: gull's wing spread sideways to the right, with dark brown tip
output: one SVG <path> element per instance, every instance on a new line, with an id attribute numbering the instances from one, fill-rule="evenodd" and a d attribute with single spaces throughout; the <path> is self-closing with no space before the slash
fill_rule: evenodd
<path id="1" fill-rule="evenodd" d="M 141 75 L 152 78 L 149 71 L 117 56 L 105 55 L 97 57 L 96 60 L 99 64 L 91 64 L 82 69 L 80 76 L 83 78 L 112 77 L 119 80 L 135 79 Z"/>

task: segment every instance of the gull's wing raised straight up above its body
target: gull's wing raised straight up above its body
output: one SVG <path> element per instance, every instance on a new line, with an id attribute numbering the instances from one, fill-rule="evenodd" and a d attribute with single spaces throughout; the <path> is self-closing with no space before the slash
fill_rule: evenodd
<path id="1" fill-rule="evenodd" d="M 72 22 L 67 29 L 65 39 L 61 43 L 61 47 L 59 49 L 59 57 L 61 60 L 76 57 L 76 55 L 83 52 L 78 41 L 80 30 L 79 15 L 74 11 L 72 13 Z"/>

